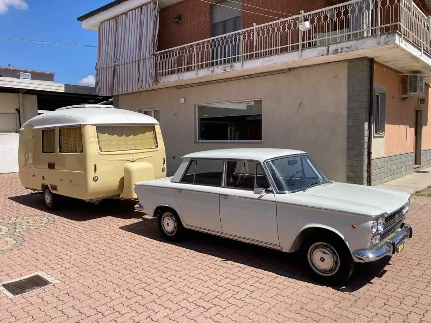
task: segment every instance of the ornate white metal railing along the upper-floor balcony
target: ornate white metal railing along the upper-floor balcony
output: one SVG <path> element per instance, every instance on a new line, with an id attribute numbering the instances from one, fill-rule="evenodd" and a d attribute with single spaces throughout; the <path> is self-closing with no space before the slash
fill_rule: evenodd
<path id="1" fill-rule="evenodd" d="M 300 22 L 311 28 L 301 31 Z M 431 54 L 431 19 L 412 0 L 351 0 L 155 53 L 158 77 L 400 32 Z"/>

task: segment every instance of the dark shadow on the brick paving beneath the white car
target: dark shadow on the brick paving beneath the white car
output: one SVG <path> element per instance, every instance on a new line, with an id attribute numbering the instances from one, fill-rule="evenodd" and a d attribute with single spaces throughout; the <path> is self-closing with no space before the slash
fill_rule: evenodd
<path id="1" fill-rule="evenodd" d="M 125 225 L 120 229 L 157 241 L 170 243 L 162 239 L 159 234 L 156 219 L 144 218 L 143 221 Z M 259 268 L 280 276 L 316 284 L 305 275 L 298 253 L 279 252 L 196 231 L 189 231 L 187 241 L 175 243 L 175 245 L 221 258 L 220 261 L 233 261 L 237 264 Z M 345 286 L 332 288 L 340 292 L 353 292 L 367 284 L 372 284 L 372 279 L 382 277 L 386 273 L 387 270 L 384 268 L 389 264 L 389 261 L 390 257 L 385 257 L 369 264 L 357 263 L 352 276 L 345 283 Z"/>

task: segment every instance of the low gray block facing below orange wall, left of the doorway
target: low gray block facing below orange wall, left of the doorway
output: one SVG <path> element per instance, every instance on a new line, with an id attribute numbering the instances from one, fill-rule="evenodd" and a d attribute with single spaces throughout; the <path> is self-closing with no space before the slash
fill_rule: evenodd
<path id="1" fill-rule="evenodd" d="M 413 163 L 413 152 L 373 158 L 372 185 L 375 186 L 413 173 Z"/>

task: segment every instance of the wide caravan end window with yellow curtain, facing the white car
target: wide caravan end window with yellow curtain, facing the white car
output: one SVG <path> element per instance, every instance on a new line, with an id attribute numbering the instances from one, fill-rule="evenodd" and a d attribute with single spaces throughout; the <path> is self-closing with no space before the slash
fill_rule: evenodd
<path id="1" fill-rule="evenodd" d="M 101 152 L 154 149 L 158 147 L 153 125 L 96 126 Z"/>

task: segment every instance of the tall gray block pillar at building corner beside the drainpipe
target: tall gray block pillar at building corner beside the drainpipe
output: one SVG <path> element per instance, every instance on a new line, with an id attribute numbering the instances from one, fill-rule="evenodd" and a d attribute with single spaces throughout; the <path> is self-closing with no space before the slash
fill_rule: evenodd
<path id="1" fill-rule="evenodd" d="M 347 182 L 367 184 L 370 60 L 347 65 Z"/>

